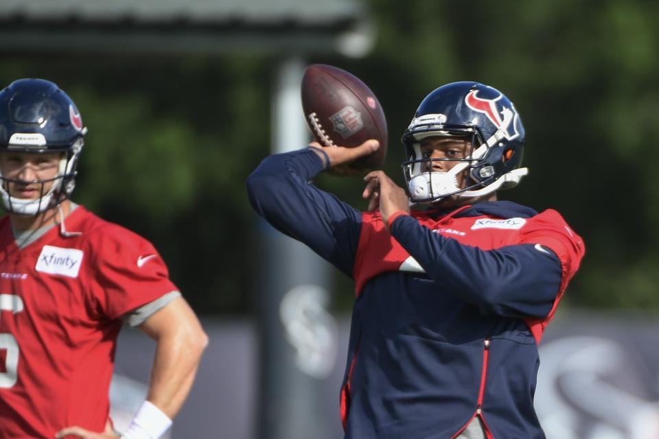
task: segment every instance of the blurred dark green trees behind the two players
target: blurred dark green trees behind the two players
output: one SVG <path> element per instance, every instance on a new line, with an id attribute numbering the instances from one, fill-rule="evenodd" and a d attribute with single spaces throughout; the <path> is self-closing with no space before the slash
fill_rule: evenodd
<path id="1" fill-rule="evenodd" d="M 305 62 L 347 69 L 375 91 L 389 174 L 402 181 L 400 134 L 427 93 L 456 80 L 496 86 L 522 116 L 531 169 L 501 198 L 557 209 L 586 241 L 566 305 L 658 306 L 659 3 L 367 3 L 378 29 L 367 58 Z M 78 104 L 89 134 L 74 200 L 150 239 L 199 313 L 249 313 L 259 245 L 244 181 L 270 151 L 277 59 L 0 56 L 1 84 L 47 78 Z M 360 178 L 319 185 L 365 208 Z M 336 278 L 345 309 L 352 285 Z"/>

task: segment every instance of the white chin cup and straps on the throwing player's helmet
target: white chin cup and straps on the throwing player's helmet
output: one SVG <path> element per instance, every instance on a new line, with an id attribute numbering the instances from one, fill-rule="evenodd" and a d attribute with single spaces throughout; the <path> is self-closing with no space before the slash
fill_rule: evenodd
<path id="1" fill-rule="evenodd" d="M 424 137 L 429 137 L 433 133 L 424 132 L 415 135 L 415 139 L 421 140 Z M 436 133 L 434 135 L 437 135 Z M 487 139 L 487 142 L 483 143 L 480 147 L 476 149 L 471 155 L 472 161 L 481 159 L 485 156 L 490 147 L 493 147 L 498 141 L 504 137 L 504 133 L 501 130 L 497 130 L 492 137 Z M 421 149 L 419 143 L 413 145 L 414 150 L 417 154 L 417 158 L 421 158 Z M 513 169 L 512 171 L 507 172 L 506 174 L 500 176 L 494 182 L 489 185 L 477 189 L 475 191 L 463 191 L 456 193 L 461 188 L 458 187 L 457 176 L 467 167 L 470 166 L 472 162 L 463 161 L 452 167 L 448 172 L 437 172 L 437 171 L 426 171 L 421 172 L 421 163 L 415 163 L 413 168 L 413 177 L 408 182 L 408 189 L 410 191 L 411 199 L 413 201 L 417 200 L 428 200 L 429 198 L 440 198 L 447 195 L 455 195 L 460 198 L 474 198 L 482 197 L 494 191 L 497 191 L 501 187 L 513 187 L 520 182 L 523 176 L 529 174 L 529 168 L 522 167 L 519 169 Z"/>

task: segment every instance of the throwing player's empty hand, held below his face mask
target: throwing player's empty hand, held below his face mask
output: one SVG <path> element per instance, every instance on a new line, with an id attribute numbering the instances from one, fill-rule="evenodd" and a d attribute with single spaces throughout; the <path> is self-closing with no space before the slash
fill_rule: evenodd
<path id="1" fill-rule="evenodd" d="M 364 177 L 366 188 L 362 198 L 369 199 L 369 211 L 380 207 L 384 224 L 389 222 L 392 213 L 403 211 L 410 213 L 410 199 L 404 189 L 386 176 L 383 171 L 373 171 Z"/>

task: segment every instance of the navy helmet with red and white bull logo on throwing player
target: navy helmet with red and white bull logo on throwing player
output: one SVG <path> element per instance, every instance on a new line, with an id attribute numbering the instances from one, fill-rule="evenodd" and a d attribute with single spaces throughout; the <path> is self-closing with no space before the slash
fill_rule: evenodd
<path id="1" fill-rule="evenodd" d="M 471 141 L 465 158 L 426 158 L 420 142 L 427 137 Z M 524 127 L 515 106 L 496 88 L 478 82 L 453 82 L 432 91 L 419 104 L 402 142 L 402 164 L 410 199 L 438 202 L 445 198 L 478 198 L 513 187 L 527 168 L 520 168 Z M 432 161 L 458 161 L 448 172 L 432 171 Z M 456 176 L 467 172 L 466 187 Z"/>

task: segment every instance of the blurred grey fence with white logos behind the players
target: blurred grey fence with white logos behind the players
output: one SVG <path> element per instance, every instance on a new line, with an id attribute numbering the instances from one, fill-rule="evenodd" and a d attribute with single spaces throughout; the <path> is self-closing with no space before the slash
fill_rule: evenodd
<path id="1" fill-rule="evenodd" d="M 171 438 L 253 439 L 259 394 L 255 325 L 217 319 L 204 326 L 211 343 Z M 342 437 L 338 389 L 348 320 L 339 319 L 337 326 L 332 372 L 318 386 L 321 394 L 308 401 L 334 419 L 331 431 L 319 431 L 319 437 Z M 111 392 L 119 427 L 146 394 L 153 353 L 154 344 L 140 331 L 122 331 Z M 548 439 L 659 438 L 659 316 L 559 311 L 540 344 L 540 359 L 535 405 Z"/>

